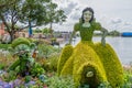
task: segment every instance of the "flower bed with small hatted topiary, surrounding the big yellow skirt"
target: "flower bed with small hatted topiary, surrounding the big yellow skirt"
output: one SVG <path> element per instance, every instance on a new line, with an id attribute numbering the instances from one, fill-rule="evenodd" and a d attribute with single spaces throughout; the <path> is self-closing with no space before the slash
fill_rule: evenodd
<path id="1" fill-rule="evenodd" d="M 0 44 L 1 88 L 75 88 L 72 76 L 58 76 L 57 64 L 62 48 L 43 41 L 19 37 L 12 44 Z M 31 54 L 32 53 L 32 54 Z M 22 63 L 23 62 L 23 63 Z M 132 64 L 123 66 L 123 84 L 132 87 Z M 90 88 L 79 85 L 77 88 Z M 98 88 L 112 88 L 101 82 Z"/>

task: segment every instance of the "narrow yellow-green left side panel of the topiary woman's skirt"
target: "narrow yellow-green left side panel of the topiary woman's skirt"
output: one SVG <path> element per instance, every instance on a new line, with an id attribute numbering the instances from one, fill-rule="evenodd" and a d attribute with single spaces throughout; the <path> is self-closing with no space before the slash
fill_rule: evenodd
<path id="1" fill-rule="evenodd" d="M 58 59 L 58 65 L 57 65 L 57 74 L 61 75 L 61 72 L 67 62 L 67 59 L 72 56 L 73 54 L 73 46 L 72 45 L 66 45 L 63 50 L 63 53 Z"/>

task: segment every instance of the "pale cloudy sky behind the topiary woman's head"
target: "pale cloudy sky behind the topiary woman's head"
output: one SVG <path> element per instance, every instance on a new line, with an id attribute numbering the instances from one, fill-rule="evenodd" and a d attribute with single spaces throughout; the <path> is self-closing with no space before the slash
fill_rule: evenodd
<path id="1" fill-rule="evenodd" d="M 63 24 L 53 24 L 55 31 L 73 31 L 81 11 L 90 7 L 97 22 L 108 31 L 132 32 L 132 0 L 53 0 L 67 15 Z"/>

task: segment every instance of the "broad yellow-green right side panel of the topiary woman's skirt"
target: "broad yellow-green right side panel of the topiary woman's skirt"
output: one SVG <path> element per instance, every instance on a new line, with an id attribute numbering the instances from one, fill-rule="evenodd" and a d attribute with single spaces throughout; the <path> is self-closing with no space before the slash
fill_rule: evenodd
<path id="1" fill-rule="evenodd" d="M 110 85 L 113 88 L 121 87 L 123 84 L 123 68 L 116 52 L 109 44 L 102 46 L 101 43 L 95 45 L 95 51 L 100 57 Z"/>

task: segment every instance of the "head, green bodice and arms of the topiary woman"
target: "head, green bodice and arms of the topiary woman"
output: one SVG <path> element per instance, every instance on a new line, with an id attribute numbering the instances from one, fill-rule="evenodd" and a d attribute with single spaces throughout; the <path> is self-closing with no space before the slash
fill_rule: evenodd
<path id="1" fill-rule="evenodd" d="M 94 31 L 101 31 L 102 32 L 101 43 L 103 46 L 106 45 L 105 37 L 108 34 L 108 31 L 105 28 L 102 28 L 99 22 L 96 22 L 96 19 L 94 16 L 94 10 L 91 8 L 86 8 L 82 10 L 79 23 L 76 23 L 74 26 L 74 32 L 69 40 L 69 44 L 72 44 L 72 38 L 77 31 L 80 32 L 81 41 L 91 41 Z"/>

